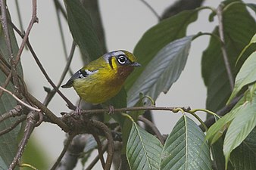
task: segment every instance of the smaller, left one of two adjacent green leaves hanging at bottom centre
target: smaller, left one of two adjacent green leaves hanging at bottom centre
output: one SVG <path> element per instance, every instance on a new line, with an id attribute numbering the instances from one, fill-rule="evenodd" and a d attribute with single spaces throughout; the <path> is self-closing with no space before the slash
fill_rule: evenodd
<path id="1" fill-rule="evenodd" d="M 163 146 L 155 136 L 133 122 L 126 146 L 126 156 L 133 169 L 159 169 Z"/>

